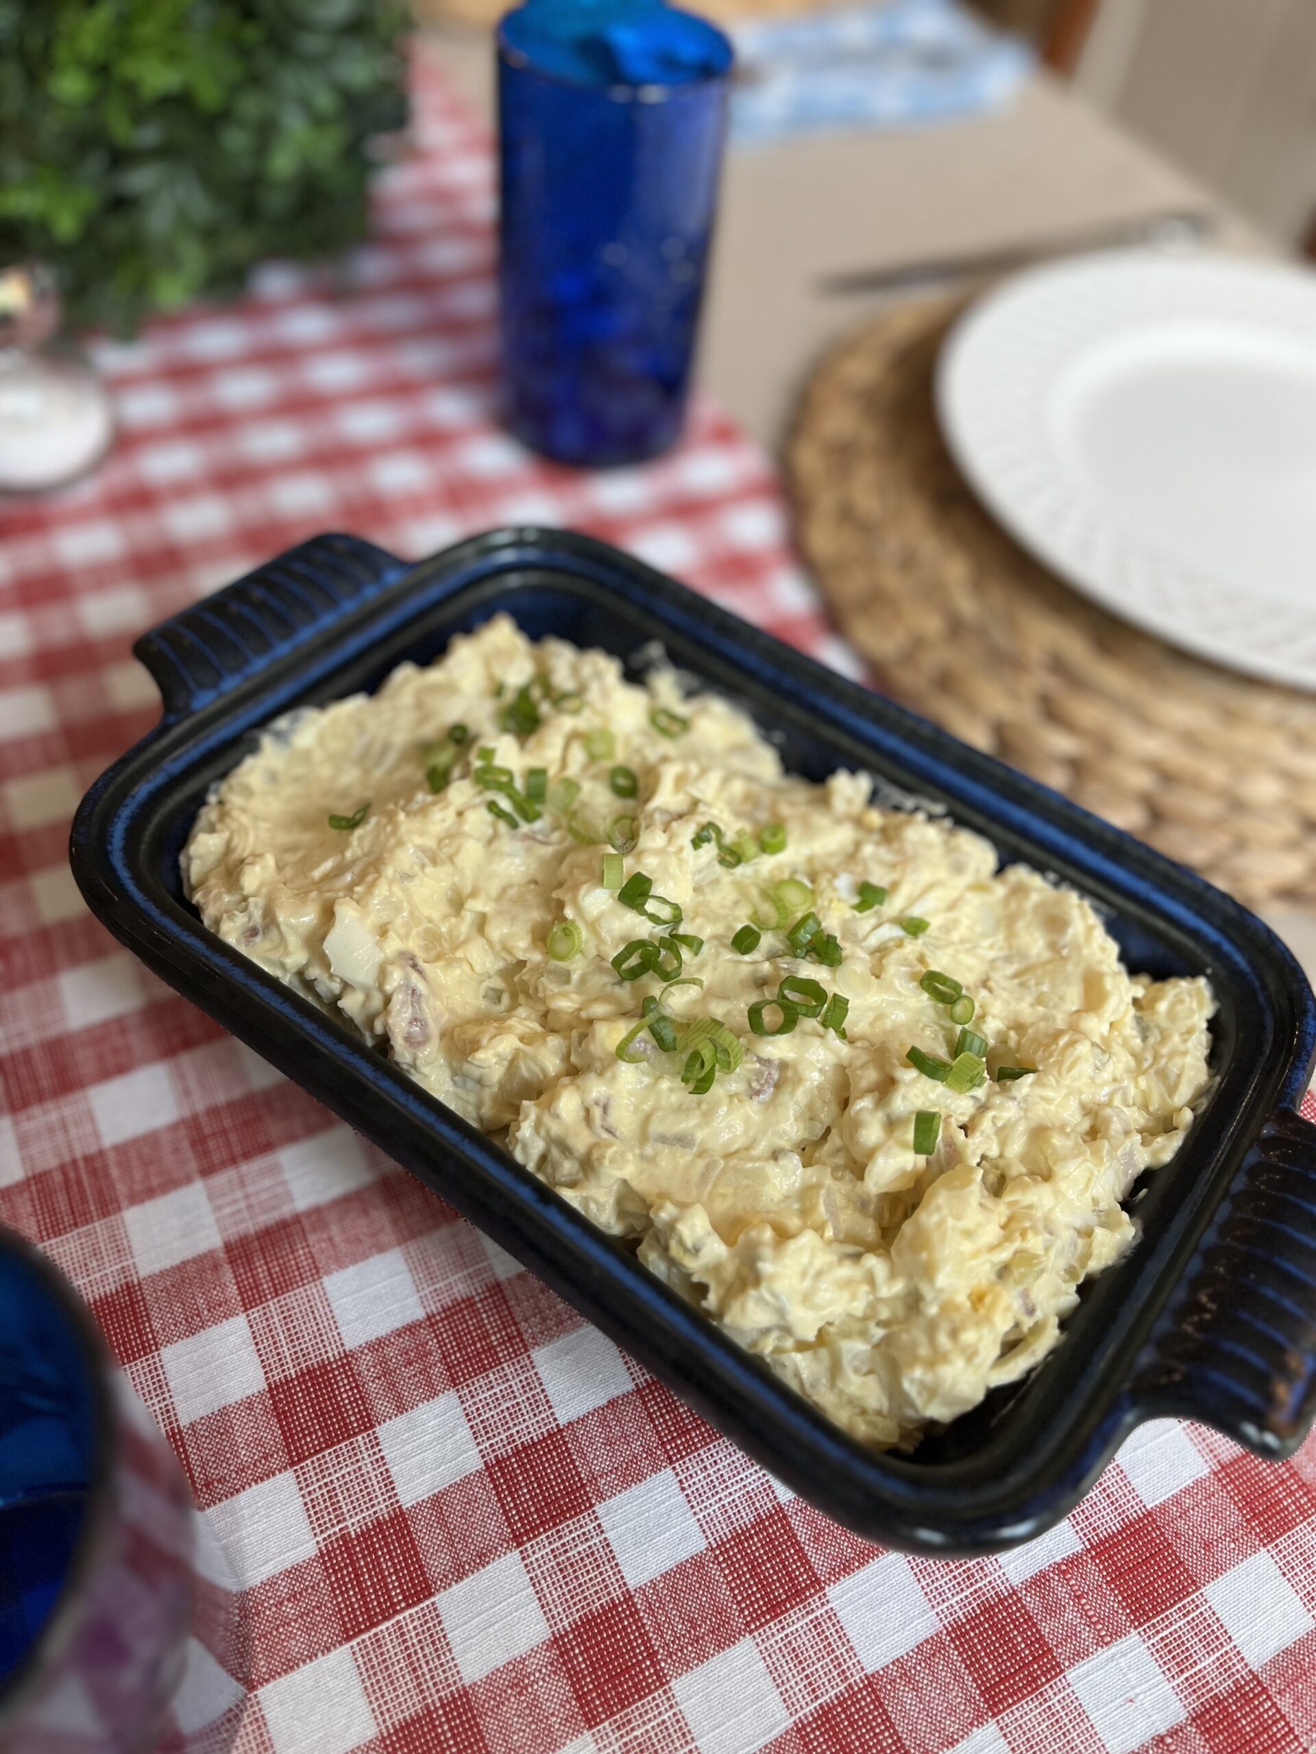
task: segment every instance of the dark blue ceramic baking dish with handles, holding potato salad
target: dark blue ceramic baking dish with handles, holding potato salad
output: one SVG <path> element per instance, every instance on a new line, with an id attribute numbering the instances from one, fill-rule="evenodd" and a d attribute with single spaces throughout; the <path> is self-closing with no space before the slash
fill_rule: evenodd
<path id="1" fill-rule="evenodd" d="M 182 898 L 191 821 L 260 726 L 372 689 L 404 658 L 426 663 L 500 609 L 532 637 L 626 661 L 660 640 L 742 702 L 790 768 L 821 779 L 865 766 L 946 805 L 1004 861 L 1088 895 L 1132 968 L 1214 984 L 1216 1082 L 1176 1159 L 1135 1189 L 1137 1247 L 1086 1287 L 1032 1377 L 911 1456 L 849 1440 L 495 1142 L 204 930 Z M 1316 1128 L 1295 1107 L 1316 1003 L 1284 945 L 1225 895 L 579 535 L 502 530 L 414 567 L 318 537 L 144 635 L 137 656 L 165 716 L 77 812 L 72 865 L 91 910 L 821 1510 L 890 1545 L 974 1554 L 1065 1515 L 1142 1419 L 1202 1419 L 1262 1456 L 1298 1445 L 1316 1415 Z"/>

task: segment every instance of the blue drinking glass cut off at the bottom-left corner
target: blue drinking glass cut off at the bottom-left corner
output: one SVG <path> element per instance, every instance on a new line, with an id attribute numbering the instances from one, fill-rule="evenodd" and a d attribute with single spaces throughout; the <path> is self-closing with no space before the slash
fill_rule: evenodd
<path id="1" fill-rule="evenodd" d="M 191 1500 L 72 1286 L 0 1228 L 0 1749 L 135 1754 L 182 1673 Z"/>

